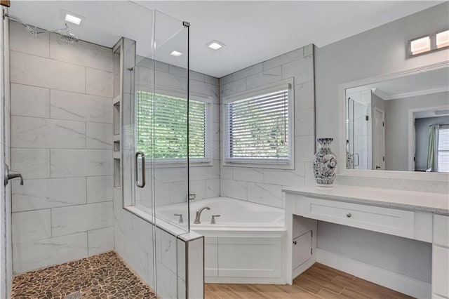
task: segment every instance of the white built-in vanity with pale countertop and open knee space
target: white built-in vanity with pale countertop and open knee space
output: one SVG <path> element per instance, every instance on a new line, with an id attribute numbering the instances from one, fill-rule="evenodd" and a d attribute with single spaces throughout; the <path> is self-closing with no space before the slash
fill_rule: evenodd
<path id="1" fill-rule="evenodd" d="M 286 194 L 286 281 L 315 262 L 416 298 L 449 298 L 448 194 L 334 185 Z M 316 246 L 318 221 L 432 244 L 431 284 Z"/>

